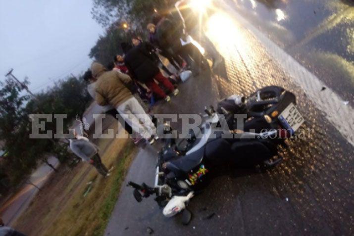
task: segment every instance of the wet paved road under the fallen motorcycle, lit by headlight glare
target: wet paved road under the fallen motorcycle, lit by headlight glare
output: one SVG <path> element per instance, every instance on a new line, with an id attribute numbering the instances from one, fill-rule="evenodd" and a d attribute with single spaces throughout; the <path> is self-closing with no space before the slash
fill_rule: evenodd
<path id="1" fill-rule="evenodd" d="M 210 24 L 220 29 L 211 27 L 208 35 L 225 57 L 228 76 L 205 72 L 181 85 L 181 94 L 156 112 L 198 113 L 216 98 L 280 85 L 297 95 L 312 137 L 293 140 L 281 150 L 284 162 L 267 173 L 225 170 L 191 201 L 189 226 L 181 225 L 179 217 L 164 218 L 152 198 L 137 203 L 132 190 L 123 187 L 105 235 L 145 235 L 147 227 L 155 235 L 353 235 L 353 107 L 330 88 L 321 92 L 318 78 L 285 57 L 231 6 L 217 11 Z M 226 35 L 220 19 L 228 26 Z M 308 81 L 302 79 L 307 76 Z M 326 104 L 334 111 L 324 109 Z M 336 118 L 335 112 L 347 116 Z M 336 120 L 350 126 L 336 125 Z M 126 181 L 152 185 L 156 151 L 141 149 Z"/>

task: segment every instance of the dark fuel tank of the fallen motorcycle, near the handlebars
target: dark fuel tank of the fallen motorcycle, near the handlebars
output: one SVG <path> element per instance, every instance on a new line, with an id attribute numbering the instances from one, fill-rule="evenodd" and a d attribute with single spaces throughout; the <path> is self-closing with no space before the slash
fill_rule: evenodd
<path id="1" fill-rule="evenodd" d="M 187 173 L 201 164 L 203 157 L 204 148 L 201 148 L 189 155 L 182 156 L 177 160 L 170 161 L 170 163 L 177 167 L 179 170 Z"/>

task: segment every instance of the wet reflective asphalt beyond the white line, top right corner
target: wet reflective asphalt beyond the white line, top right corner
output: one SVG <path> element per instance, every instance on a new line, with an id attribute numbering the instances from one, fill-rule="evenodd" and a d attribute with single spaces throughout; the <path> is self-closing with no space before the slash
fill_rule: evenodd
<path id="1" fill-rule="evenodd" d="M 353 0 L 227 2 L 354 105 Z"/>

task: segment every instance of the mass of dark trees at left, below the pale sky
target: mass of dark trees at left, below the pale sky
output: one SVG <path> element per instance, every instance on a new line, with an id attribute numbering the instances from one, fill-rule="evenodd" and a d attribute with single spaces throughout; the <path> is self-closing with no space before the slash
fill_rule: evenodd
<path id="1" fill-rule="evenodd" d="M 24 84 L 27 85 L 28 81 L 25 80 Z M 24 88 L 13 79 L 0 83 L 0 141 L 6 150 L 6 156 L 0 162 L 2 182 L 8 187 L 20 184 L 40 162 L 55 170 L 47 160 L 49 155 L 61 163 L 72 157 L 67 143 L 54 139 L 30 139 L 32 124 L 29 114 L 67 114 L 64 129 L 68 129 L 76 115 L 82 117 L 91 101 L 85 82 L 75 77 L 59 81 L 51 89 L 37 94 L 36 99 L 30 99 Z M 56 122 L 46 123 L 46 129 L 55 134 Z"/>

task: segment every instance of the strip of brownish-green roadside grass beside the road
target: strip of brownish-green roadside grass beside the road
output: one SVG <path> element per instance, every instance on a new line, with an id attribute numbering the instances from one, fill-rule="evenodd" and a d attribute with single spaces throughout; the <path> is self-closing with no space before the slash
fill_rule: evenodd
<path id="1" fill-rule="evenodd" d="M 102 177 L 87 163 L 63 171 L 41 190 L 14 227 L 29 236 L 103 235 L 136 148 L 126 139 L 100 140 L 98 145 L 102 162 L 114 166 L 111 176 Z"/>

